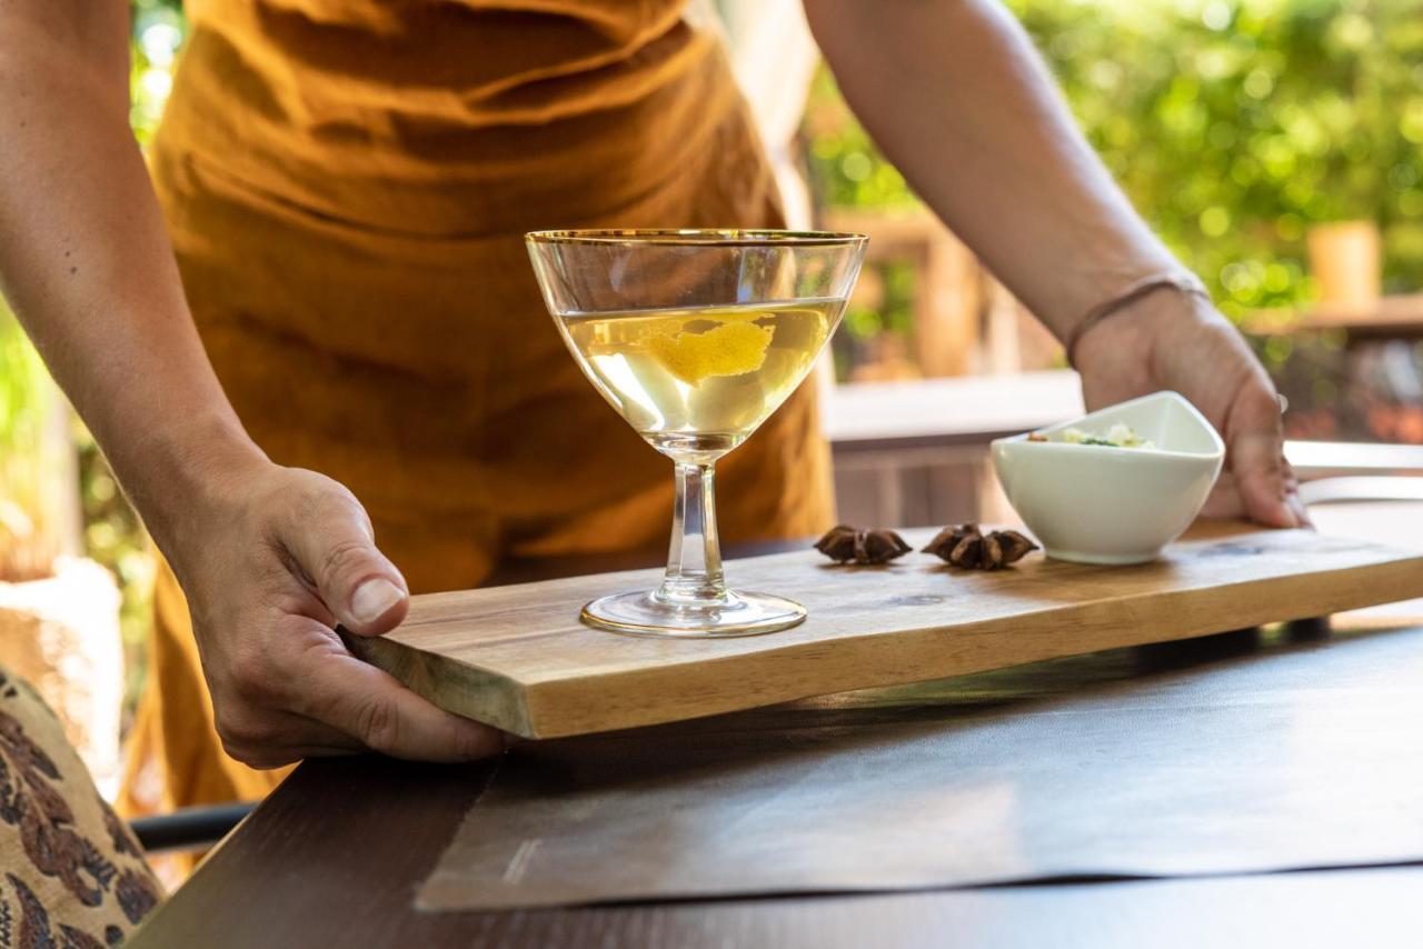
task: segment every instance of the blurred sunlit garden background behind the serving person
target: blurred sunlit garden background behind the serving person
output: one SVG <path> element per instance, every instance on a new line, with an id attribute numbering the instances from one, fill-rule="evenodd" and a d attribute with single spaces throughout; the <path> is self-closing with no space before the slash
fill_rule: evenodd
<path id="1" fill-rule="evenodd" d="M 1137 208 L 1207 280 L 1221 309 L 1252 330 L 1295 407 L 1294 434 L 1423 442 L 1423 350 L 1407 333 L 1349 344 L 1349 322 L 1375 319 L 1380 307 L 1412 306 L 1423 330 L 1423 306 L 1409 303 L 1423 289 L 1423 17 L 1416 3 L 1009 6 L 1039 40 L 1090 141 Z M 179 4 L 134 3 L 132 124 L 141 142 L 161 118 L 184 31 Z M 906 248 L 945 239 L 824 70 L 797 151 L 822 222 L 859 222 L 872 236 L 875 228 L 902 228 Z M 1339 222 L 1352 223 L 1321 228 Z M 953 279 L 973 282 L 963 299 L 976 300 L 955 319 L 969 323 L 982 351 L 933 364 L 921 359 L 915 339 L 925 327 L 916 320 L 933 307 L 919 296 L 939 286 L 919 279 L 922 266 L 912 253 L 872 260 L 837 339 L 841 381 L 1062 366 L 1056 346 L 1035 336 L 1030 322 L 1005 322 L 1012 302 L 976 270 L 955 272 Z M 1010 346 L 995 341 L 1005 326 L 1015 334 Z M 1383 364 L 1389 373 L 1375 371 Z M 1385 377 L 1392 381 L 1380 383 Z M 144 670 L 151 555 L 92 441 L 77 423 L 55 425 L 53 400 L 43 367 L 0 312 L 0 580 L 44 576 L 65 549 L 111 571 L 122 590 L 131 707 Z M 74 472 L 77 504 L 65 497 L 74 494 Z"/>

